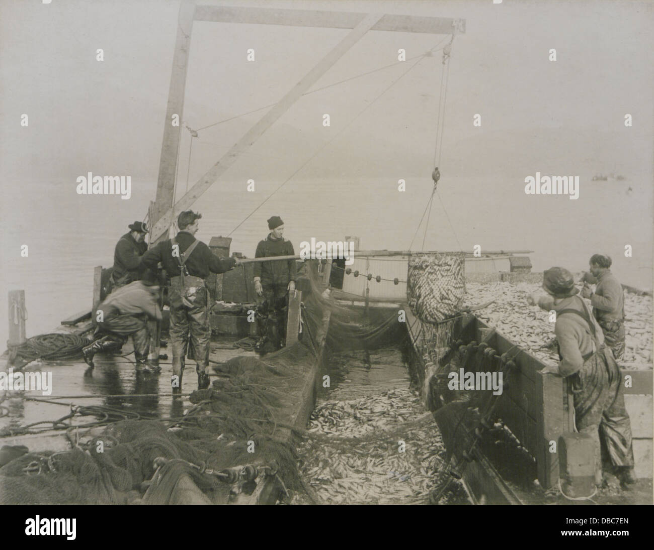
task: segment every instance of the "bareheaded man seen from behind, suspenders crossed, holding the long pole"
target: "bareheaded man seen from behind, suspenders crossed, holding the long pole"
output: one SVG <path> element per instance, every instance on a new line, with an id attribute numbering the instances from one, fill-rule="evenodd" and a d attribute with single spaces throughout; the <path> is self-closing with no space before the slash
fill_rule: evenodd
<path id="1" fill-rule="evenodd" d="M 170 303 L 170 338 L 173 348 L 173 376 L 171 387 L 173 395 L 182 393 L 182 374 L 184 361 L 190 343 L 198 373 L 198 389 L 209 387 L 209 311 L 207 302 L 209 292 L 205 278 L 212 273 L 224 273 L 239 265 L 235 258 L 223 258 L 213 254 L 209 247 L 195 238 L 198 232 L 198 219 L 202 216 L 186 210 L 177 217 L 179 233 L 150 248 L 143 255 L 143 264 L 156 270 L 162 263 L 171 279 L 168 293 Z"/>

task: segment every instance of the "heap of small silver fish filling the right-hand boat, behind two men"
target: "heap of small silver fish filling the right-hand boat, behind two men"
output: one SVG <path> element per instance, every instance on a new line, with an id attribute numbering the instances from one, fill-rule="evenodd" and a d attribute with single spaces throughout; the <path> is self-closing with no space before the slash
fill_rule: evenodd
<path id="1" fill-rule="evenodd" d="M 528 295 L 545 295 L 538 283 L 466 283 L 466 306 L 493 304 L 475 315 L 545 364 L 557 364 L 555 348 L 545 348 L 554 338 L 549 313 L 527 303 Z M 653 301 L 649 296 L 625 292 L 625 368 L 652 368 Z"/>

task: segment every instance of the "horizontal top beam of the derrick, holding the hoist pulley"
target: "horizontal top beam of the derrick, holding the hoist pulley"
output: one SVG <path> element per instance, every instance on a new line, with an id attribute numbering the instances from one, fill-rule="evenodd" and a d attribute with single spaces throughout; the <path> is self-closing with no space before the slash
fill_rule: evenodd
<path id="1" fill-rule="evenodd" d="M 290 25 L 292 27 L 354 29 L 356 25 L 362 22 L 365 16 L 366 14 L 364 13 L 354 12 L 198 5 L 196 7 L 195 20 L 251 25 Z M 385 14 L 371 30 L 456 35 L 466 32 L 466 21 L 443 17 Z"/>

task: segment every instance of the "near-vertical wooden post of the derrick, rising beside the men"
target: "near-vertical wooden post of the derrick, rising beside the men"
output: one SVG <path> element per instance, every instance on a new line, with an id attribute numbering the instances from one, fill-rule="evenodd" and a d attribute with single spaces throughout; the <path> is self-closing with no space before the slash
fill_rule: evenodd
<path id="1" fill-rule="evenodd" d="M 157 180 L 157 194 L 150 218 L 150 246 L 165 237 L 165 232 L 172 220 L 165 224 L 163 231 L 155 231 L 156 223 L 169 212 L 173 206 L 175 192 L 175 174 L 177 173 L 177 159 L 179 140 L 184 112 L 184 89 L 186 88 L 186 68 L 188 67 L 188 52 L 191 44 L 191 31 L 196 5 L 193 1 L 182 0 L 177 20 L 177 39 L 175 39 L 175 52 L 173 53 L 173 71 L 170 75 L 168 89 L 168 104 L 166 106 L 165 120 L 163 121 L 162 153 L 159 161 L 159 176 Z M 173 126 L 173 115 L 179 116 L 179 125 Z M 182 208 L 186 210 L 186 208 Z M 181 210 L 180 210 L 181 212 Z"/>

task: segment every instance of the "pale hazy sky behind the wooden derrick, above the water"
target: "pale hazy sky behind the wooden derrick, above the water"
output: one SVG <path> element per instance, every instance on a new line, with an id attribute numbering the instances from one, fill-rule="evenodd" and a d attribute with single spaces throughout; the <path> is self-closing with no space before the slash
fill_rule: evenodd
<path id="1" fill-rule="evenodd" d="M 166 0 L 53 0 L 50 5 L 2 0 L 3 180 L 67 182 L 88 170 L 156 180 L 178 5 Z M 451 167 L 452 175 L 479 174 L 480 169 L 482 174 L 511 169 L 530 173 L 553 160 L 574 169 L 585 162 L 580 158 L 585 153 L 591 158 L 596 149 L 604 153 L 604 142 L 613 140 L 619 143 L 610 143 L 609 150 L 617 147 L 620 154 L 610 161 L 594 157 L 596 170 L 651 175 L 652 1 L 309 1 L 265 6 L 465 18 L 467 33 L 453 44 L 443 139 L 442 164 L 445 170 Z M 184 120 L 198 128 L 274 103 L 346 33 L 196 22 Z M 407 57 L 422 54 L 442 38 L 368 33 L 315 88 L 394 63 L 398 48 L 405 48 Z M 97 48 L 104 50 L 102 62 L 95 60 Z M 246 61 L 248 48 L 256 52 L 254 63 Z M 548 60 L 549 48 L 557 49 L 556 62 Z M 325 150 L 322 162 L 305 176 L 332 175 L 335 167 L 346 167 L 351 175 L 364 170 L 363 176 L 388 169 L 416 175 L 428 170 L 440 60 L 437 53 L 421 61 Z M 289 148 L 298 159 L 313 154 L 404 70 L 405 65 L 398 65 L 307 95 L 239 165 L 261 165 L 269 176 L 282 175 L 275 172 L 288 167 Z M 264 112 L 201 132 L 194 143 L 192 181 Z M 332 118 L 327 130 L 321 125 L 324 112 Z M 634 125 L 625 130 L 627 112 Z M 23 113 L 29 114 L 29 129 L 19 125 Z M 472 125 L 477 113 L 481 128 Z M 540 131 L 552 132 L 538 140 Z M 521 151 L 525 137 L 533 139 Z M 184 138 L 185 182 L 186 131 Z M 497 158 L 506 150 L 502 142 L 513 150 L 511 159 Z M 623 152 L 630 158 L 622 158 Z M 532 166 L 536 159 L 540 167 Z"/>

